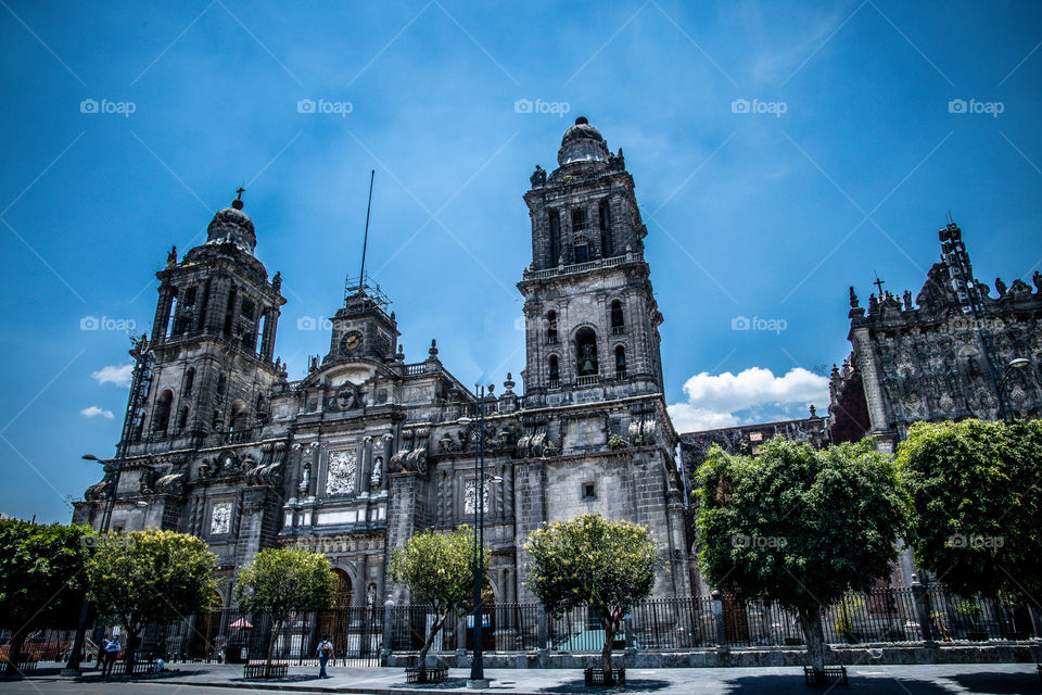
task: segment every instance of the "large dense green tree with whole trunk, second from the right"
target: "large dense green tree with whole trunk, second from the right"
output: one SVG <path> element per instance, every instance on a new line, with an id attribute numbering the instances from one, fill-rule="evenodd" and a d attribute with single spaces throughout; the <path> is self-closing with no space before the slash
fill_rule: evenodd
<path id="1" fill-rule="evenodd" d="M 897 559 L 907 502 L 891 458 L 867 440 L 821 451 L 776 437 L 755 457 L 713 446 L 698 482 L 707 581 L 796 612 L 822 670 L 822 610 Z"/>

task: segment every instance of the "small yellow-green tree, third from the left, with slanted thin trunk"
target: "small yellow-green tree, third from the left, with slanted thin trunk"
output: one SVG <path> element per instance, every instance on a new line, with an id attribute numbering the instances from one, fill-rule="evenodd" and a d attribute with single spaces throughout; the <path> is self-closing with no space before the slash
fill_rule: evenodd
<path id="1" fill-rule="evenodd" d="M 329 558 L 320 553 L 270 548 L 257 553 L 242 569 L 236 584 L 239 608 L 271 617 L 274 630 L 267 666 L 271 666 L 271 652 L 290 615 L 329 608 L 335 591 L 336 576 L 330 569 Z"/>

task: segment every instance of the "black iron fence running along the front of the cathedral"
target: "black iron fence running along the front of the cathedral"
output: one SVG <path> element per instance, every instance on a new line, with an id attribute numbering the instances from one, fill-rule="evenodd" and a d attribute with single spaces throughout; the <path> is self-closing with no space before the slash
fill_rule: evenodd
<path id="1" fill-rule="evenodd" d="M 276 636 L 268 616 L 225 609 L 149 626 L 137 657 L 256 662 L 266 658 L 270 647 L 275 662 L 304 665 L 317 659 L 319 642 L 329 639 L 338 664 L 378 666 L 385 652 L 421 648 L 434 619 L 430 606 L 417 604 L 335 608 L 293 615 Z M 1026 606 L 997 597 L 956 596 L 940 584 L 851 593 L 822 610 L 825 640 L 830 644 L 918 642 L 924 628 L 940 642 L 1024 640 L 1039 635 L 1038 619 Z M 116 630 L 99 623 L 89 636 L 100 644 Z M 431 650 L 469 652 L 474 632 L 471 616 L 452 616 Z M 551 615 L 539 604 L 510 603 L 487 606 L 482 637 L 486 652 L 596 653 L 603 645 L 605 631 L 589 609 Z M 10 634 L 0 633 L 0 661 L 8 658 L 9 642 Z M 669 652 L 803 642 L 797 616 L 777 604 L 723 595 L 641 602 L 626 616 L 614 647 Z M 23 647 L 23 660 L 64 660 L 71 644 L 69 631 L 37 631 Z"/>

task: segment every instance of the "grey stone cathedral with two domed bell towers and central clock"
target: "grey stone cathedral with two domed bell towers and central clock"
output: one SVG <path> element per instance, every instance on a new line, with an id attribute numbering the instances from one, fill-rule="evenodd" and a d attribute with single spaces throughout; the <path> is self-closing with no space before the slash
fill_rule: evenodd
<path id="1" fill-rule="evenodd" d="M 497 602 L 518 602 L 534 598 L 529 534 L 599 511 L 650 528 L 663 560 L 653 595 L 690 595 L 662 315 L 634 180 L 622 150 L 611 152 L 586 118 L 564 132 L 557 161 L 549 173 L 537 166 L 524 193 L 523 394 L 507 375 L 498 393 L 475 395 L 433 341 L 427 359 L 406 363 L 390 301 L 365 277 L 348 281 L 325 357 L 289 380 L 275 357 L 281 275 L 269 279 L 255 255 L 240 190 L 206 242 L 180 260 L 171 252 L 156 274 L 152 333 L 131 351 L 112 529 L 204 539 L 219 558 L 225 606 L 258 551 L 312 548 L 338 574 L 338 602 L 358 606 L 408 601 L 386 578 L 390 549 L 425 529 L 473 525 L 483 510 L 491 589 Z M 100 526 L 116 459 L 105 470 L 75 521 Z"/>

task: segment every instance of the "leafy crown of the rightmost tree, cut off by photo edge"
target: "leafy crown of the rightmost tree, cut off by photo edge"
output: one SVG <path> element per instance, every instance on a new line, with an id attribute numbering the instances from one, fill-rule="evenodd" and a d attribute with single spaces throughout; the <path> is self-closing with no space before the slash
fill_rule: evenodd
<path id="1" fill-rule="evenodd" d="M 898 447 L 915 560 L 962 596 L 1042 592 L 1042 421 L 916 422 Z"/>

